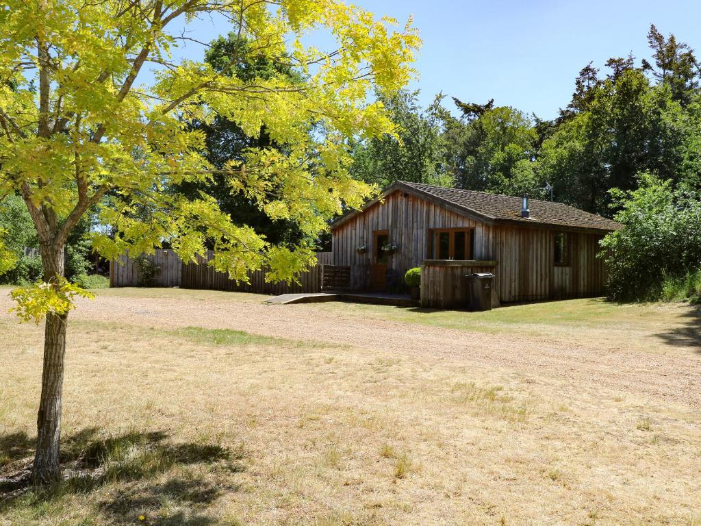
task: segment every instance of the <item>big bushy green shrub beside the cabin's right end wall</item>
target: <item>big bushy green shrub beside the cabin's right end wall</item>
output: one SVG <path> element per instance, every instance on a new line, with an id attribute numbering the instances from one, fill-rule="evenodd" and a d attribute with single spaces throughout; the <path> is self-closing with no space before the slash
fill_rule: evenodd
<path id="1" fill-rule="evenodd" d="M 640 187 L 611 191 L 622 229 L 601 246 L 608 296 L 622 301 L 691 297 L 701 262 L 701 200 L 669 181 L 641 175 Z"/>

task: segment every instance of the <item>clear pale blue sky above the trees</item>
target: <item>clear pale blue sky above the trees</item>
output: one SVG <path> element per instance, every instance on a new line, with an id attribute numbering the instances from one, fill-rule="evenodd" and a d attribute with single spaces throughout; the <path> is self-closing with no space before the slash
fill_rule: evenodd
<path id="1" fill-rule="evenodd" d="M 632 52 L 649 57 L 651 23 L 674 33 L 701 55 L 699 0 L 353 0 L 376 15 L 414 15 L 423 48 L 420 74 L 411 88 L 424 105 L 439 91 L 470 102 L 494 98 L 544 119 L 566 106 L 579 70 Z M 196 24 L 196 38 L 209 40 L 228 29 Z M 193 35 L 194 36 L 194 35 Z M 316 42 L 315 42 L 316 44 Z M 201 49 L 185 51 L 200 58 Z M 447 98 L 446 107 L 453 109 Z"/>

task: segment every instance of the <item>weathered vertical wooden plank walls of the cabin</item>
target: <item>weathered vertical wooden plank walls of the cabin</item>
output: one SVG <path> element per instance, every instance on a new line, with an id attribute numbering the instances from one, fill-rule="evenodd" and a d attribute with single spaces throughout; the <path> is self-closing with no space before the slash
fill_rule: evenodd
<path id="1" fill-rule="evenodd" d="M 400 190 L 334 228 L 333 262 L 351 267 L 354 290 L 367 289 L 371 285 L 374 231 L 389 232 L 390 243 L 398 248 L 388 256 L 388 267 L 403 274 L 433 257 L 432 229 L 455 228 L 474 229 L 475 262 L 496 262 L 494 267 L 467 263 L 475 269 L 489 267 L 488 271 L 496 274 L 494 288 L 500 302 L 594 297 L 604 291 L 604 262 L 597 258 L 603 231 L 482 222 Z M 554 263 L 554 235 L 558 232 L 568 236 L 569 263 L 561 266 Z M 363 245 L 367 250 L 360 254 L 356 249 Z M 459 291 L 465 288 L 465 274 L 468 272 L 464 268 L 426 266 L 422 271 L 422 303 L 436 308 L 457 306 L 454 303 L 464 299 Z"/>

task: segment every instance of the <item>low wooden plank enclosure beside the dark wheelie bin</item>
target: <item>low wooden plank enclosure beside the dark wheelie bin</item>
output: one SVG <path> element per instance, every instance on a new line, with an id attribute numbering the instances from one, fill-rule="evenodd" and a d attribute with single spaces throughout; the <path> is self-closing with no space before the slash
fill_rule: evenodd
<path id="1" fill-rule="evenodd" d="M 464 309 L 468 296 L 468 274 L 496 274 L 496 261 L 446 261 L 426 259 L 421 265 L 421 306 L 427 309 Z M 498 306 L 498 281 L 494 280 L 492 304 Z"/>

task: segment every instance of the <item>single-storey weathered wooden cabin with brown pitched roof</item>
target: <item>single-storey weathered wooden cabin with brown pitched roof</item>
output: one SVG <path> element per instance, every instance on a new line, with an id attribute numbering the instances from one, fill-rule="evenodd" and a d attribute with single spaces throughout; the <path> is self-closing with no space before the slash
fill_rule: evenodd
<path id="1" fill-rule="evenodd" d="M 350 288 L 399 292 L 421 267 L 421 304 L 464 304 L 465 275 L 490 271 L 499 302 L 599 296 L 599 240 L 620 225 L 562 203 L 399 181 L 332 224 Z"/>

